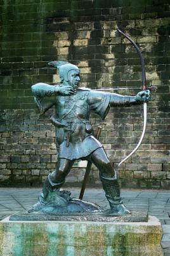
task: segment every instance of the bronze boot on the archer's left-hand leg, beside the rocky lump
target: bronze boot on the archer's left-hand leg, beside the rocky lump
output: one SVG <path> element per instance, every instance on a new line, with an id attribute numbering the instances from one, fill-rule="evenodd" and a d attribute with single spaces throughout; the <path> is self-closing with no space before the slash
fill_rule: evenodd
<path id="1" fill-rule="evenodd" d="M 44 186 L 42 188 L 41 196 L 39 197 L 39 202 L 34 204 L 32 208 L 29 209 L 29 212 L 32 211 L 39 211 L 41 210 L 46 204 L 55 202 L 56 205 L 62 206 L 67 203 L 64 197 L 60 197 L 58 195 L 60 188 L 62 187 L 65 179 L 60 183 L 53 183 L 51 180 L 50 174 L 44 181 Z"/>

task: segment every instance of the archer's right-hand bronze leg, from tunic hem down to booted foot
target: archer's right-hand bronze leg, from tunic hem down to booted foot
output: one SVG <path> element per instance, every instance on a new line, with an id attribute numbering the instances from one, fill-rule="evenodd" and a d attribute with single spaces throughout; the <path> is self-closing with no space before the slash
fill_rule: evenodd
<path id="1" fill-rule="evenodd" d="M 95 150 L 95 152 L 90 155 L 89 160 L 91 160 L 100 171 L 100 180 L 103 185 L 103 190 L 105 190 L 105 196 L 110 204 L 110 209 L 121 214 L 131 213 L 122 203 L 121 190 L 117 181 L 116 172 L 103 148 Z"/>

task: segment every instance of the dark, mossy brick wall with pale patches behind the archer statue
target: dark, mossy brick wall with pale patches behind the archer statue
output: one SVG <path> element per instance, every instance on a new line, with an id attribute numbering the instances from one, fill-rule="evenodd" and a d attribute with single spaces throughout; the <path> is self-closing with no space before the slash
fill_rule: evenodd
<path id="1" fill-rule="evenodd" d="M 140 1 L 136 6 L 133 0 L 2 0 L 0 10 L 1 185 L 37 185 L 55 168 L 55 131 L 49 123 L 53 110 L 39 115 L 30 90 L 37 82 L 59 81 L 48 62 L 67 60 L 79 66 L 82 87 L 141 87 L 139 56 L 118 34 L 118 26 L 143 53 L 147 85 L 158 87 L 148 104 L 145 138 L 118 167 L 140 139 L 142 106 L 112 108 L 104 121 L 95 114 L 91 121 L 95 129 L 102 127 L 100 141 L 122 187 L 170 188 L 169 1 Z M 67 183 L 81 183 L 84 167 L 77 166 L 79 162 Z M 89 184 L 100 184 L 94 166 Z"/>

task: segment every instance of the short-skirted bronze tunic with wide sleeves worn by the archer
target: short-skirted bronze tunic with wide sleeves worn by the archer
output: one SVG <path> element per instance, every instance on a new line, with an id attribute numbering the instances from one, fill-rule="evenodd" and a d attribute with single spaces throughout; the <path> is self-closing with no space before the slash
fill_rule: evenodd
<path id="1" fill-rule="evenodd" d="M 97 148 L 103 147 L 93 134 L 89 114 L 91 110 L 95 111 L 104 120 L 110 109 L 110 94 L 82 91 L 71 96 L 35 97 L 35 102 L 43 113 L 49 106 L 50 108 L 55 106 L 53 120 L 56 127 L 58 157 L 69 160 L 84 159 Z M 60 124 L 66 125 L 71 131 L 65 131 Z M 69 146 L 67 146 L 68 134 Z"/>

